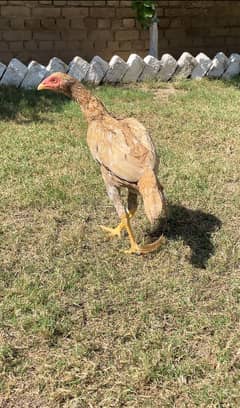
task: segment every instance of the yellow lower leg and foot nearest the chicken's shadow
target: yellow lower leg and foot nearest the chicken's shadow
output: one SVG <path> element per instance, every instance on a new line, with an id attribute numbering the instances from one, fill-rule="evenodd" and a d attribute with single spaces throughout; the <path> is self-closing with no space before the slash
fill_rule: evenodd
<path id="1" fill-rule="evenodd" d="M 141 247 L 137 244 L 135 240 L 128 214 L 122 217 L 121 223 L 123 225 L 123 228 L 126 228 L 130 240 L 130 248 L 124 251 L 127 254 L 147 254 L 158 249 L 160 245 L 164 242 L 164 238 L 161 236 L 157 241 L 152 242 L 151 244 L 146 244 Z"/>

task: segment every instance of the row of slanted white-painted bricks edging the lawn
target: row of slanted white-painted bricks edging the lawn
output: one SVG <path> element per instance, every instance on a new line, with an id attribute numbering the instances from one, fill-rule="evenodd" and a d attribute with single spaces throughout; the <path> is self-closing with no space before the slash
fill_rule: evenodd
<path id="1" fill-rule="evenodd" d="M 90 63 L 76 56 L 69 64 L 53 57 L 47 66 L 37 61 L 31 61 L 26 66 L 17 58 L 13 58 L 8 66 L 0 62 L 0 86 L 36 88 L 44 78 L 57 71 L 66 72 L 79 81 L 94 85 L 127 84 L 147 80 L 166 82 L 203 77 L 231 79 L 240 73 L 240 55 L 234 53 L 228 58 L 223 52 L 219 52 L 210 59 L 204 53 L 193 57 L 189 52 L 184 52 L 178 60 L 170 54 L 164 54 L 158 60 L 151 55 L 143 59 L 137 54 L 131 54 L 127 62 L 114 55 L 109 63 L 99 56 L 95 56 Z"/>

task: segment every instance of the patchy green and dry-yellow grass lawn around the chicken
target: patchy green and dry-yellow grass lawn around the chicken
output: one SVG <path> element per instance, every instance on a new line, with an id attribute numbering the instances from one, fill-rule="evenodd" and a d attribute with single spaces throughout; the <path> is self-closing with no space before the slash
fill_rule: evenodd
<path id="1" fill-rule="evenodd" d="M 240 82 L 94 90 L 150 130 L 165 244 L 126 237 L 79 107 L 0 89 L 0 407 L 239 407 Z M 143 206 L 139 243 L 156 238 Z"/>

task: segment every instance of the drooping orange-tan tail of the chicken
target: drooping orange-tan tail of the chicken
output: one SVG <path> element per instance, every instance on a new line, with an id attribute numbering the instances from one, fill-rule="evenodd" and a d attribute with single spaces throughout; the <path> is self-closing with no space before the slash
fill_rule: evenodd
<path id="1" fill-rule="evenodd" d="M 154 171 L 149 169 L 138 181 L 139 192 L 143 197 L 143 204 L 147 218 L 153 224 L 164 211 L 167 215 L 167 202 L 163 187 L 159 183 Z"/>

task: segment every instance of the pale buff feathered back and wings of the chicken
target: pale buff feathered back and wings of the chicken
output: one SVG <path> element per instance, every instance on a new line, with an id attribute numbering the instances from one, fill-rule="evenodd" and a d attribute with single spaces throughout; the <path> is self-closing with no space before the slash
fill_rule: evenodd
<path id="1" fill-rule="evenodd" d="M 110 117 L 91 122 L 87 132 L 93 157 L 129 183 L 137 183 L 146 167 L 154 169 L 156 165 L 151 140 L 146 132 L 141 133 L 141 127 L 137 133 L 136 122 L 133 127 L 130 120 L 118 121 Z M 135 132 L 133 136 L 132 131 Z"/>

